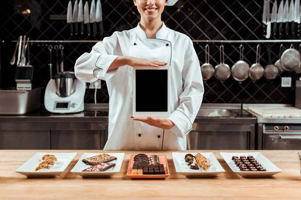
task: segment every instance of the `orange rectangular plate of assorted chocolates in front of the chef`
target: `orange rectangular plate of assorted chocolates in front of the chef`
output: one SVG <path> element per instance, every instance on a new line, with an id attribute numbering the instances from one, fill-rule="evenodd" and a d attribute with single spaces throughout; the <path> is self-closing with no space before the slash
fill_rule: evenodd
<path id="1" fill-rule="evenodd" d="M 169 169 L 168 169 L 168 164 L 167 164 L 167 158 L 166 155 L 158 155 L 159 156 L 159 161 L 161 164 L 164 165 L 164 170 L 165 170 L 165 174 L 157 174 L 157 175 L 152 175 L 152 174 L 145 174 L 145 175 L 132 175 L 132 169 L 133 169 L 133 164 L 134 164 L 134 156 L 135 155 L 131 155 L 129 162 L 128 162 L 128 168 L 127 168 L 127 173 L 126 176 L 130 177 L 130 178 L 167 178 L 169 176 Z M 147 155 L 148 158 L 150 155 Z"/>

